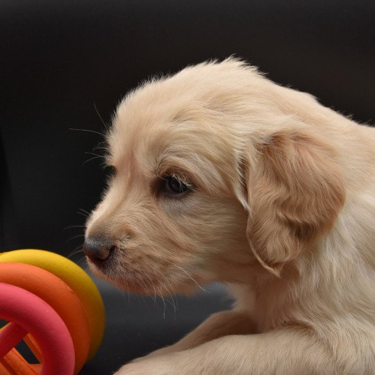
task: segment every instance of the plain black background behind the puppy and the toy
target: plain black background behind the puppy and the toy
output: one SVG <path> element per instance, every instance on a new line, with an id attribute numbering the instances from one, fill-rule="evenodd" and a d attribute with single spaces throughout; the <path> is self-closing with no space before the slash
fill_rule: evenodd
<path id="1" fill-rule="evenodd" d="M 0 0 L 0 251 L 80 247 L 83 228 L 72 226 L 99 201 L 106 172 L 99 158 L 86 163 L 101 135 L 69 129 L 103 133 L 119 100 L 151 75 L 235 54 L 374 122 L 374 19 L 372 0 Z M 228 306 L 215 287 L 163 319 L 160 301 L 145 300 L 147 315 L 140 297 L 127 307 L 99 287 L 108 330 L 82 374 L 110 374 Z"/>

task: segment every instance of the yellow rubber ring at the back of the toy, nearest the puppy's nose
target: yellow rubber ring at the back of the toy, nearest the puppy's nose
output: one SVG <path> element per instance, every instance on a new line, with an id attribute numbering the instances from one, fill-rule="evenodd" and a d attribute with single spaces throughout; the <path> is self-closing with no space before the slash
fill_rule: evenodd
<path id="1" fill-rule="evenodd" d="M 35 265 L 51 272 L 76 293 L 82 303 L 90 330 L 88 360 L 94 357 L 103 338 L 106 314 L 99 290 L 90 276 L 72 260 L 51 251 L 22 249 L 0 253 L 0 263 L 16 262 Z"/>

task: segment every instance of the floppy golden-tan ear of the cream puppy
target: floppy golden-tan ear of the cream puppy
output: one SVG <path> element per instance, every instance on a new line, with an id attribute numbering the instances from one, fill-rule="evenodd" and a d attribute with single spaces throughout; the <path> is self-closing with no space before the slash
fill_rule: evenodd
<path id="1" fill-rule="evenodd" d="M 247 238 L 260 263 L 278 275 L 335 222 L 344 203 L 340 167 L 328 144 L 293 131 L 257 145 L 248 165 Z"/>

